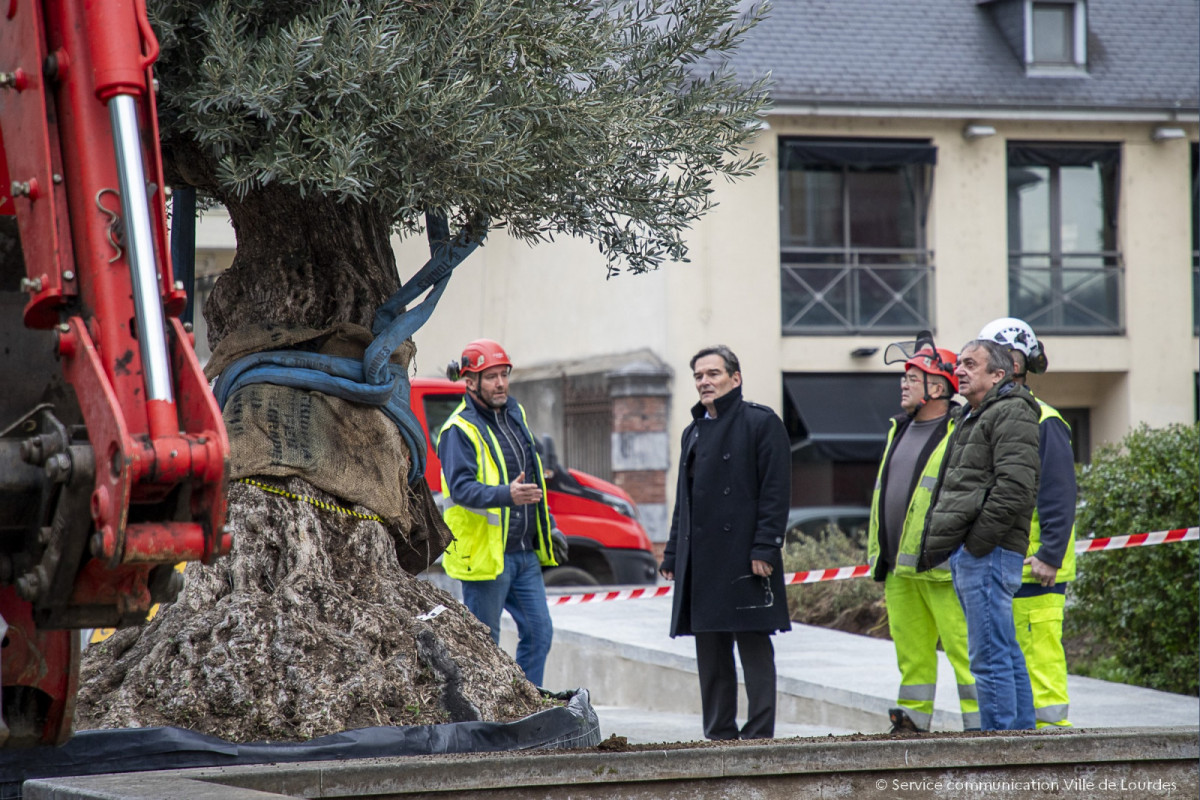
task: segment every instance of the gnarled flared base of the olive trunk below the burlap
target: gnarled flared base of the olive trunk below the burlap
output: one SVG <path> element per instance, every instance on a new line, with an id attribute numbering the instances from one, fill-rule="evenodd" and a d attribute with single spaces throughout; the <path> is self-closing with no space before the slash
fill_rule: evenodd
<path id="1" fill-rule="evenodd" d="M 287 491 L 337 503 L 299 479 Z M 400 567 L 379 523 L 242 483 L 230 507 L 229 557 L 188 565 L 175 603 L 88 649 L 79 728 L 172 724 L 299 741 L 541 708 L 486 626 Z M 446 610 L 416 619 L 438 606 Z"/>

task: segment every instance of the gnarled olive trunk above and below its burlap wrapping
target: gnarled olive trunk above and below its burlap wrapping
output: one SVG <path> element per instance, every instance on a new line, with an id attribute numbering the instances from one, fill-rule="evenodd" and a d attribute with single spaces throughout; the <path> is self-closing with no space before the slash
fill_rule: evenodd
<path id="1" fill-rule="evenodd" d="M 214 347 L 248 323 L 370 329 L 398 287 L 388 222 L 370 205 L 270 188 L 227 199 L 227 207 L 238 255 L 204 309 Z M 246 427 L 235 417 L 250 405 L 227 404 L 230 432 Z M 373 409 L 354 413 L 383 419 Z M 377 439 L 355 458 L 395 458 L 389 451 L 403 445 L 398 435 L 389 441 Z M 244 447 L 233 443 L 234 475 L 253 455 Z M 188 565 L 175 603 L 148 626 L 88 649 L 78 727 L 175 724 L 235 741 L 305 740 L 374 724 L 509 720 L 540 708 L 486 626 L 397 561 L 413 545 L 412 521 L 428 507 L 421 498 L 414 513 L 384 525 L 340 512 L 378 510 L 323 492 L 302 473 L 274 475 L 257 477 L 286 494 L 230 485 L 227 558 Z M 448 610 L 416 619 L 438 606 Z"/>

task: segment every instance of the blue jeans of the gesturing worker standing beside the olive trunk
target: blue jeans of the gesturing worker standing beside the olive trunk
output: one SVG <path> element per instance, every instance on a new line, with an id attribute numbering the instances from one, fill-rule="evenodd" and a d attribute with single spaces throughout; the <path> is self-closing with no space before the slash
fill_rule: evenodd
<path id="1" fill-rule="evenodd" d="M 538 554 L 505 553 L 504 572 L 493 581 L 462 582 L 462 602 L 492 628 L 496 644 L 500 643 L 500 612 L 512 614 L 517 624 L 517 666 L 530 684 L 541 686 L 554 625 L 550 620 Z"/>

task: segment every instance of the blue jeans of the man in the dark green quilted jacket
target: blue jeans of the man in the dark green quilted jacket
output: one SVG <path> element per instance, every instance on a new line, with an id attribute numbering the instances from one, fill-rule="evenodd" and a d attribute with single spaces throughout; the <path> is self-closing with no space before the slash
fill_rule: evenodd
<path id="1" fill-rule="evenodd" d="M 954 591 L 967 618 L 967 657 L 984 730 L 1032 730 L 1033 691 L 1016 643 L 1013 595 L 1021 588 L 1021 553 L 995 548 L 976 558 L 966 547 L 950 555 Z"/>

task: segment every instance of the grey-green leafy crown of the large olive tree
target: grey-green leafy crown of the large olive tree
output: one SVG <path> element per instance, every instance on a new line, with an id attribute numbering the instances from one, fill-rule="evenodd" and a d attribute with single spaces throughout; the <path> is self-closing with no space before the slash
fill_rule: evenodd
<path id="1" fill-rule="evenodd" d="M 724 64 L 763 14 L 742 5 L 163 0 L 163 138 L 211 160 L 222 201 L 293 186 L 401 231 L 432 212 L 583 236 L 641 272 L 685 260 L 713 179 L 761 161 L 742 148 L 764 83 Z"/>

